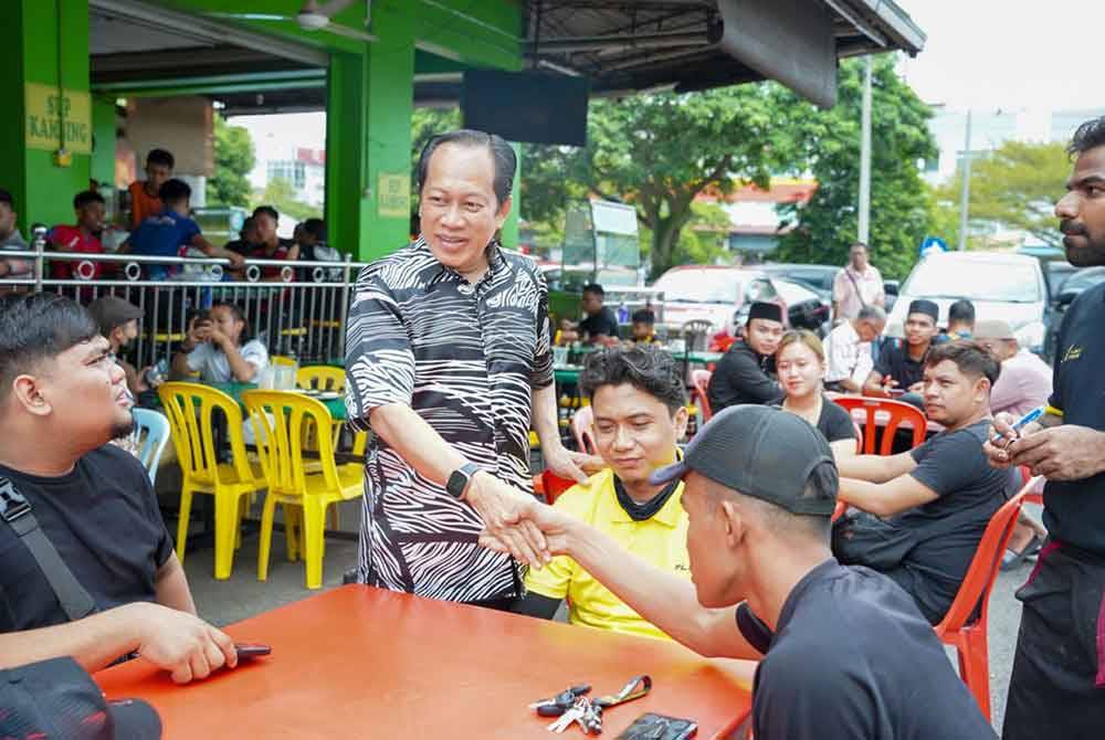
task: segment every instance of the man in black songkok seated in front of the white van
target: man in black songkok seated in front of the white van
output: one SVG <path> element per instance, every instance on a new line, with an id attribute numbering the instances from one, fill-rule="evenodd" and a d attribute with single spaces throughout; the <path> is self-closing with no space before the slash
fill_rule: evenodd
<path id="1" fill-rule="evenodd" d="M 925 358 L 936 337 L 936 320 L 940 307 L 924 298 L 909 304 L 905 317 L 905 339 L 891 339 L 878 350 L 875 368 L 863 384 L 864 395 L 890 398 L 892 389 L 915 394 L 913 402 L 922 405 L 922 380 L 925 376 Z M 911 399 L 912 400 L 912 399 Z"/>

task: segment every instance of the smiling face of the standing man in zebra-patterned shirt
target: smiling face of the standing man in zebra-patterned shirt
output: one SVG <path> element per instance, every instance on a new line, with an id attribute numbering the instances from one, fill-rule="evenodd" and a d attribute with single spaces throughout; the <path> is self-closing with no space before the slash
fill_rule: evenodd
<path id="1" fill-rule="evenodd" d="M 495 163 L 485 147 L 433 150 L 419 203 L 422 237 L 438 262 L 461 274 L 486 266 L 485 251 L 511 212 L 495 198 Z"/>

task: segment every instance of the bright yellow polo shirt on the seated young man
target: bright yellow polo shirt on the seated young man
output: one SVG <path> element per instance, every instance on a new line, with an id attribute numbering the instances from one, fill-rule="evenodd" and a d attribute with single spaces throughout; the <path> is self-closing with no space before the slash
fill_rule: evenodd
<path id="1" fill-rule="evenodd" d="M 680 484 L 655 515 L 636 521 L 618 503 L 614 474 L 608 468 L 591 476 L 586 488 L 572 486 L 566 490 L 552 506 L 610 536 L 645 562 L 690 579 L 687 515 L 682 497 Z M 572 624 L 667 638 L 567 556 L 554 558 L 541 570 L 529 571 L 526 588 L 549 599 L 567 599 Z"/>

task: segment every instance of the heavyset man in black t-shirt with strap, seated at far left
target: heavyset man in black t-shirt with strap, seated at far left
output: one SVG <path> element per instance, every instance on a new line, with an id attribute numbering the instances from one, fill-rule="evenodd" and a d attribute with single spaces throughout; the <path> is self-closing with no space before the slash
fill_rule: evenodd
<path id="1" fill-rule="evenodd" d="M 238 657 L 196 616 L 131 431 L 123 369 L 75 302 L 0 298 L 0 668 L 140 654 L 186 683 Z"/>

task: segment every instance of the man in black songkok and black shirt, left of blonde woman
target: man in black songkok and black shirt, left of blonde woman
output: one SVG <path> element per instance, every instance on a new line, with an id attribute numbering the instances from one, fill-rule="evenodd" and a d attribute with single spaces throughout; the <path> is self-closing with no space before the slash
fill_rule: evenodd
<path id="1" fill-rule="evenodd" d="M 782 339 L 782 308 L 757 300 L 748 309 L 748 323 L 709 378 L 706 394 L 717 413 L 738 403 L 778 403 L 782 387 L 776 382 L 775 350 Z"/>

